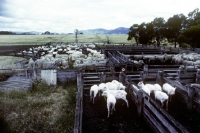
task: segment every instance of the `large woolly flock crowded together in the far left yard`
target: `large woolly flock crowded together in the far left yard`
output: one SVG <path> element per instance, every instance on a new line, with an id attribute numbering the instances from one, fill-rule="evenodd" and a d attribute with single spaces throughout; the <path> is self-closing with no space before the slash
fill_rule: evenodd
<path id="1" fill-rule="evenodd" d="M 88 54 L 83 53 L 82 48 L 85 48 Z M 34 51 L 34 54 L 41 52 L 38 59 L 35 61 L 30 58 L 28 67 L 38 69 L 67 69 L 69 61 L 73 63 L 73 67 L 84 67 L 87 65 L 105 65 L 107 59 L 104 54 L 94 49 L 94 44 L 56 44 L 50 46 L 39 46 L 30 48 L 28 53 Z M 27 52 L 27 51 L 23 51 Z"/>

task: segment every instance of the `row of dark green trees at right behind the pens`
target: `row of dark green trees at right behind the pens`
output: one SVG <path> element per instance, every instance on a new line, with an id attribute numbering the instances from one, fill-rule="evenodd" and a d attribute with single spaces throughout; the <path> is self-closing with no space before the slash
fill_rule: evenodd
<path id="1" fill-rule="evenodd" d="M 135 39 L 136 43 L 160 46 L 161 41 L 174 43 L 174 47 L 187 44 L 193 48 L 200 47 L 200 12 L 196 8 L 188 16 L 177 14 L 167 21 L 162 17 L 149 23 L 133 24 L 129 28 L 127 40 Z"/>

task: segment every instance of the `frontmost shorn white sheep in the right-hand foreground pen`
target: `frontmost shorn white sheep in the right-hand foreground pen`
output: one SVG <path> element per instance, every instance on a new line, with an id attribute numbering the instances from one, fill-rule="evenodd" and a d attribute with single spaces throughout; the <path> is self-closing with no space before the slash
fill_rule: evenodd
<path id="1" fill-rule="evenodd" d="M 166 93 L 162 92 L 162 91 L 155 91 L 154 92 L 154 96 L 155 96 L 155 100 L 160 101 L 161 107 L 163 107 L 164 102 L 166 102 L 166 110 L 168 110 L 168 99 L 169 99 L 169 96 Z"/>

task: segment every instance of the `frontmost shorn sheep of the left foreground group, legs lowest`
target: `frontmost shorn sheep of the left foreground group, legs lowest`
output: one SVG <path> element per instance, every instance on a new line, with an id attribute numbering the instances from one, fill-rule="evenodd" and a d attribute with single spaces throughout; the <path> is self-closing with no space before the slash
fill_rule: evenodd
<path id="1" fill-rule="evenodd" d="M 102 96 L 107 97 L 107 109 L 108 109 L 108 117 L 109 117 L 110 114 L 113 114 L 113 110 L 115 110 L 116 98 L 109 91 L 104 91 L 102 93 Z"/>

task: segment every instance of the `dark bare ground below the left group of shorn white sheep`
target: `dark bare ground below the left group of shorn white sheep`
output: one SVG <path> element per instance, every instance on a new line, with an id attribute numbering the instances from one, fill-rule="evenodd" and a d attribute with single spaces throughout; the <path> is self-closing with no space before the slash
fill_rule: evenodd
<path id="1" fill-rule="evenodd" d="M 107 118 L 106 101 L 103 97 L 90 102 L 89 95 L 83 97 L 83 133 L 152 133 L 151 129 L 137 117 L 136 106 L 129 102 L 129 108 L 117 100 L 116 111 Z"/>

